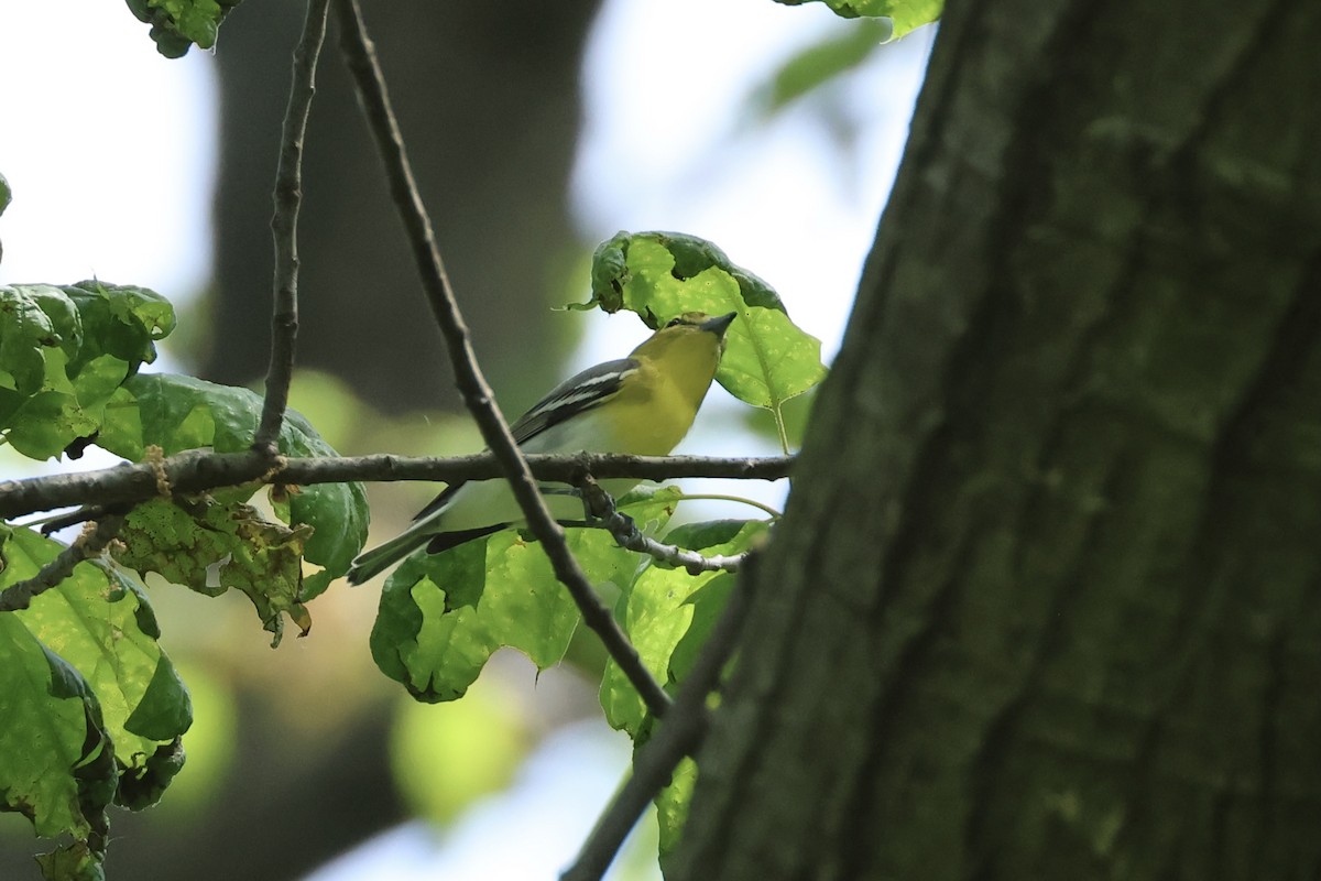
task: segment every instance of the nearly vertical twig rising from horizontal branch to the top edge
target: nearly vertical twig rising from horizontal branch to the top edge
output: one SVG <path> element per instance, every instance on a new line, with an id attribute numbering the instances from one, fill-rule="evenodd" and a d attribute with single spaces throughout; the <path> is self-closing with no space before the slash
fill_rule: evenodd
<path id="1" fill-rule="evenodd" d="M 289 104 L 280 135 L 280 161 L 275 173 L 275 308 L 271 314 L 271 363 L 266 374 L 266 400 L 262 424 L 252 437 L 252 449 L 275 456 L 280 425 L 289 405 L 293 379 L 293 350 L 299 335 L 299 207 L 303 205 L 303 137 L 308 131 L 312 96 L 316 92 L 317 58 L 326 36 L 330 0 L 308 0 L 303 37 L 293 50 L 293 77 Z"/>

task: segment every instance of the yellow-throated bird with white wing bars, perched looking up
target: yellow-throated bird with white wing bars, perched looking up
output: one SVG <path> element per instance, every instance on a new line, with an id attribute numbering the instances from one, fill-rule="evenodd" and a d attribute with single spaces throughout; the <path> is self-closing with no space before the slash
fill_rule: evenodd
<path id="1" fill-rule="evenodd" d="M 668 321 L 627 358 L 606 361 L 571 376 L 511 425 L 524 453 L 633 453 L 667 456 L 692 427 L 725 350 L 737 312 L 711 317 L 688 312 Z M 602 481 L 618 497 L 633 478 Z M 573 490 L 542 487 L 557 520 L 583 516 Z M 523 522 L 505 479 L 448 486 L 412 524 L 384 544 L 359 553 L 349 584 L 363 584 L 425 547 L 440 553 Z"/>

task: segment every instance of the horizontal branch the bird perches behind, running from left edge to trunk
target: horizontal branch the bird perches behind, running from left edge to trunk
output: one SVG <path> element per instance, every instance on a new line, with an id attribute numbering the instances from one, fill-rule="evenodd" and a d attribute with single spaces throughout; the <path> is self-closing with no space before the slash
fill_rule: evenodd
<path id="1" fill-rule="evenodd" d="M 717 458 L 711 456 L 624 456 L 573 453 L 528 456 L 532 473 L 543 481 L 575 483 L 584 474 L 601 479 L 635 477 L 663 481 L 674 477 L 731 477 L 774 481 L 789 476 L 793 458 Z M 143 502 L 160 495 L 160 474 L 174 493 L 206 493 L 244 483 L 310 486 L 347 481 L 445 481 L 502 477 L 490 453 L 448 458 L 391 456 L 343 456 L 284 458 L 272 468 L 260 453 L 211 453 L 186 450 L 168 458 L 136 465 L 116 465 L 96 472 L 49 474 L 20 481 L 0 481 L 0 519 L 73 505 Z"/>

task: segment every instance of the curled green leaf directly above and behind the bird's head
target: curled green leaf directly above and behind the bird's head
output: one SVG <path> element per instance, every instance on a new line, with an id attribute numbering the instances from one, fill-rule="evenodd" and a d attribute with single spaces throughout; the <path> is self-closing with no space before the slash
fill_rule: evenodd
<path id="1" fill-rule="evenodd" d="M 620 232 L 596 250 L 592 284 L 587 305 L 630 309 L 651 328 L 684 312 L 738 312 L 716 380 L 749 404 L 777 411 L 826 376 L 820 341 L 789 320 L 769 284 L 704 239 Z"/>

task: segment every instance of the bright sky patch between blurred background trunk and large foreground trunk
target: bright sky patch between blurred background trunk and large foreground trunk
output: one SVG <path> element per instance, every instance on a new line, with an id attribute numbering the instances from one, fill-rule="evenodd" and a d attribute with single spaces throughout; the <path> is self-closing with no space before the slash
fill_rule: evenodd
<path id="1" fill-rule="evenodd" d="M 750 98 L 797 49 L 849 26 L 816 3 L 609 0 L 585 53 L 573 180 L 588 240 L 657 229 L 711 239 L 769 281 L 832 357 L 931 34 L 886 46 L 857 75 L 768 123 Z M 658 124 L 649 104 L 630 99 L 646 88 L 674 95 L 682 124 Z"/>

